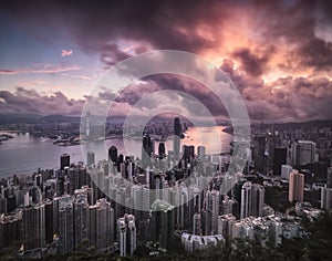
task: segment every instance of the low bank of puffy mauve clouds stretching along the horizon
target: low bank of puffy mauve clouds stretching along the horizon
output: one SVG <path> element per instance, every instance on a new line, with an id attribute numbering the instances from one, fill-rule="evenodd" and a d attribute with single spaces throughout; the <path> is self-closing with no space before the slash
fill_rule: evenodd
<path id="1" fill-rule="evenodd" d="M 308 119 L 330 119 L 332 101 L 332 81 L 326 77 L 279 77 L 264 83 L 248 74 L 241 74 L 226 60 L 221 67 L 238 86 L 248 108 L 251 121 L 289 122 Z M 108 112 L 110 101 L 114 101 L 110 115 L 126 116 L 133 106 L 142 98 L 147 98 L 142 109 L 135 108 L 135 115 L 144 115 L 148 109 L 178 107 L 179 113 L 198 117 L 201 111 L 191 101 L 181 98 L 177 92 L 194 96 L 216 117 L 228 117 L 228 113 L 219 100 L 205 86 L 194 80 L 170 74 L 154 75 L 133 83 L 121 93 L 115 94 L 106 87 L 101 87 L 97 96 L 84 96 L 81 100 L 66 97 L 61 92 L 41 94 L 34 90 L 18 87 L 15 92 L 0 91 L 0 112 L 81 115 L 86 101 L 94 112 Z M 162 96 L 149 94 L 170 90 Z M 174 91 L 174 92 L 172 92 Z M 147 111 L 146 111 L 147 109 Z"/>

